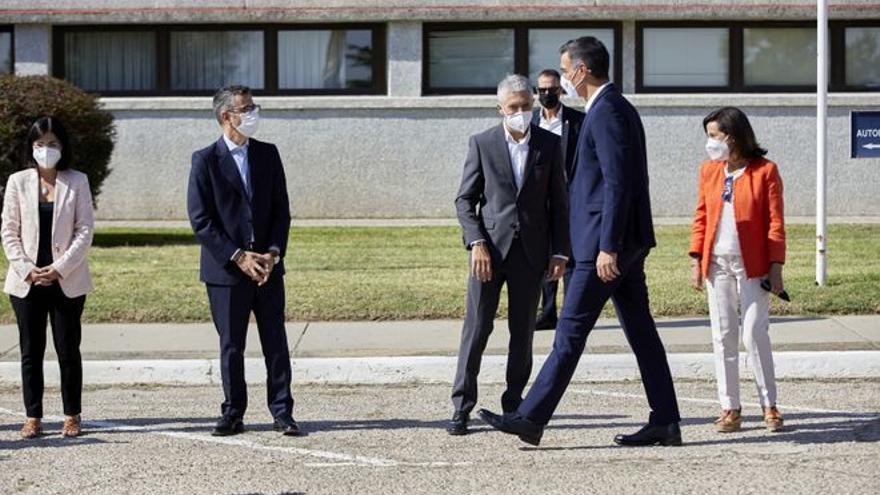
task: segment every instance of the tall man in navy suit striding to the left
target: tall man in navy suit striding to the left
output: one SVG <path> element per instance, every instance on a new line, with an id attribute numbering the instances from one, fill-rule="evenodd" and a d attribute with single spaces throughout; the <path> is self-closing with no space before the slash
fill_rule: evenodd
<path id="1" fill-rule="evenodd" d="M 655 246 L 645 132 L 636 109 L 608 82 L 608 50 L 593 37 L 561 48 L 561 68 L 587 100 L 570 177 L 575 270 L 553 350 L 513 414 L 481 410 L 491 426 L 538 445 L 608 299 L 632 347 L 651 413 L 620 445 L 681 445 L 681 420 L 666 351 L 648 306 L 645 257 Z"/>

